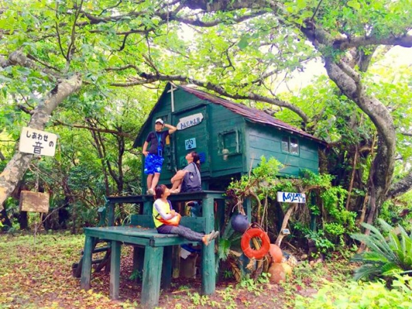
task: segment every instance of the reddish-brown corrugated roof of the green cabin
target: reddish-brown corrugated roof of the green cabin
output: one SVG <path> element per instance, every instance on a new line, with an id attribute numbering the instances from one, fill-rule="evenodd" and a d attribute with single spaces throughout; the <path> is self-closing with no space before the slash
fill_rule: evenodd
<path id="1" fill-rule="evenodd" d="M 206 93 L 204 91 L 193 89 L 187 86 L 179 85 L 177 87 L 183 89 L 184 91 L 187 91 L 189 93 L 196 95 L 196 97 L 202 100 L 207 100 L 209 102 L 225 106 L 225 108 L 229 109 L 230 111 L 233 111 L 233 113 L 242 115 L 243 117 L 246 117 L 252 122 L 258 122 L 260 124 L 266 124 L 268 126 L 275 126 L 276 128 L 282 128 L 283 130 L 287 130 L 290 133 L 296 133 L 298 135 L 308 137 L 309 139 L 314 139 L 315 141 L 318 141 L 321 144 L 324 144 L 324 145 L 328 144 L 322 139 L 314 137 L 313 135 L 310 135 L 309 133 L 306 133 L 303 130 L 299 130 L 298 128 L 295 128 L 294 126 L 290 126 L 290 124 L 286 124 L 286 122 L 282 122 L 279 119 L 276 119 L 275 117 L 272 117 L 271 115 L 264 113 L 264 111 L 260 111 L 259 109 L 251 108 L 243 104 L 233 103 L 233 102 L 230 102 L 229 100 L 219 98 L 216 95 L 211 95 L 210 93 Z"/>

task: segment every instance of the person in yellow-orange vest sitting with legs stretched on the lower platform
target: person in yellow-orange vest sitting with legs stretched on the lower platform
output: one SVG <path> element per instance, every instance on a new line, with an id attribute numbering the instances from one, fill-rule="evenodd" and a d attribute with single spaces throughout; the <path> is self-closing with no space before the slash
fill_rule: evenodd
<path id="1" fill-rule="evenodd" d="M 187 240 L 192 240 L 195 242 L 203 242 L 206 246 L 219 236 L 218 231 L 211 231 L 209 234 L 202 234 L 188 227 L 183 227 L 183 225 L 170 225 L 170 222 L 165 220 L 170 220 L 176 216 L 180 216 L 174 209 L 172 209 L 172 204 L 168 200 L 170 196 L 170 191 L 165 185 L 158 185 L 155 188 L 155 198 L 156 201 L 153 203 L 153 220 L 155 221 L 155 227 L 158 233 L 161 234 L 177 234 L 186 238 Z"/>

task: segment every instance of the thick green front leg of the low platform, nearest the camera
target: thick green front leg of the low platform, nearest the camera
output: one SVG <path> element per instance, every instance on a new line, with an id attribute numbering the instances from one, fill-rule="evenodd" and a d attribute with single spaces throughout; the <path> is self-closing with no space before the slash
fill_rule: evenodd
<path id="1" fill-rule="evenodd" d="M 163 247 L 146 247 L 144 253 L 141 305 L 154 308 L 159 303 Z"/>

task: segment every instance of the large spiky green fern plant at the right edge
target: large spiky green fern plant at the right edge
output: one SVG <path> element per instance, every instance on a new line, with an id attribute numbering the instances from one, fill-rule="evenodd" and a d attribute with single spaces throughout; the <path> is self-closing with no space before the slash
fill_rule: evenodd
<path id="1" fill-rule="evenodd" d="M 356 233 L 355 240 L 364 242 L 369 248 L 352 258 L 353 262 L 361 262 L 356 269 L 354 279 L 373 279 L 374 277 L 394 277 L 396 274 L 412 273 L 412 232 L 400 225 L 391 227 L 385 220 L 378 219 L 385 237 L 376 227 L 363 223 L 363 227 L 370 229 L 369 235 Z"/>

